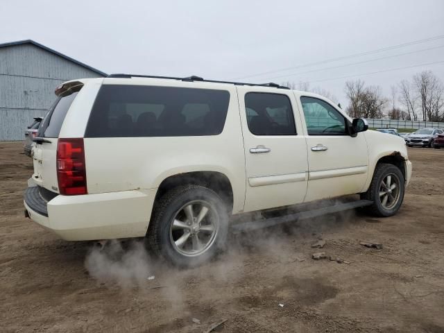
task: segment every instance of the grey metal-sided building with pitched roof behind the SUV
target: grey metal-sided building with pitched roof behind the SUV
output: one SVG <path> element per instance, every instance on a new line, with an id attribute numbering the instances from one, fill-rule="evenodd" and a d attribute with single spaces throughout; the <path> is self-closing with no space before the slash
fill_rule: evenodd
<path id="1" fill-rule="evenodd" d="M 33 40 L 0 44 L 0 141 L 23 140 L 33 117 L 51 108 L 60 83 L 106 75 Z"/>

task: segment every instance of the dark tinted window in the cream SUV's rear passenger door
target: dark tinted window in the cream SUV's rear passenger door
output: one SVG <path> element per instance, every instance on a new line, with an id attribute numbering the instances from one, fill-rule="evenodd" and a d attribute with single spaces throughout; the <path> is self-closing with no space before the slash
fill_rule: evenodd
<path id="1" fill-rule="evenodd" d="M 296 135 L 288 96 L 248 92 L 245 108 L 248 129 L 254 135 Z"/>

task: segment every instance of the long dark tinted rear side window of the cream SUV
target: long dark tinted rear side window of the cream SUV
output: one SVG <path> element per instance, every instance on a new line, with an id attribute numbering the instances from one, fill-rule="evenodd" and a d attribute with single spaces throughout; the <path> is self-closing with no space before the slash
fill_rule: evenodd
<path id="1" fill-rule="evenodd" d="M 85 137 L 218 135 L 229 101 L 225 90 L 103 85 Z"/>

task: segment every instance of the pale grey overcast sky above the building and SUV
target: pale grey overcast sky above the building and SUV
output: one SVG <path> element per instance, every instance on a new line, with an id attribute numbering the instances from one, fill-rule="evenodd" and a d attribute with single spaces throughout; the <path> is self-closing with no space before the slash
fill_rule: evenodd
<path id="1" fill-rule="evenodd" d="M 308 81 L 343 105 L 346 80 L 380 85 L 387 96 L 391 85 L 425 69 L 444 81 L 443 0 L 2 0 L 0 19 L 0 42 L 33 39 L 107 73 Z M 440 35 L 429 42 L 279 71 Z M 410 54 L 397 56 L 401 53 Z M 377 58 L 385 59 L 364 62 Z M 355 62 L 364 63 L 325 69 Z M 249 77 L 264 72 L 270 73 Z M 354 77 L 330 80 L 343 76 Z"/>

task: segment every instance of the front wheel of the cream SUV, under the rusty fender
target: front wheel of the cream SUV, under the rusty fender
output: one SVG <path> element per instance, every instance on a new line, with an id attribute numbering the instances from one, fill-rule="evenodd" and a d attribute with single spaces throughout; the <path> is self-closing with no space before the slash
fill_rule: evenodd
<path id="1" fill-rule="evenodd" d="M 372 182 L 361 198 L 373 201 L 364 211 L 375 216 L 392 216 L 398 212 L 404 200 L 405 181 L 402 172 L 393 164 L 379 163 Z"/>

